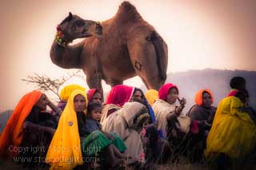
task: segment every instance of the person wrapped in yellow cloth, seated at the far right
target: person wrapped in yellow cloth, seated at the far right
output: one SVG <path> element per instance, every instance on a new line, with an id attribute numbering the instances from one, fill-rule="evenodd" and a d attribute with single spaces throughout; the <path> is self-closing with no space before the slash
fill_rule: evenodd
<path id="1" fill-rule="evenodd" d="M 221 158 L 241 159 L 255 146 L 256 126 L 246 112 L 245 97 L 239 94 L 241 92 L 220 101 L 207 137 L 206 159 L 216 160 L 217 164 Z"/>

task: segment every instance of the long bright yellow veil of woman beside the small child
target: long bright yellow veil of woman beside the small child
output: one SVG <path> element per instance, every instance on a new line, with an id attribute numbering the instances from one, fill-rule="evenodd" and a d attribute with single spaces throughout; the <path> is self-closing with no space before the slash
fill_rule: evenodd
<path id="1" fill-rule="evenodd" d="M 70 94 L 46 155 L 46 163 L 50 164 L 51 168 L 72 169 L 82 164 L 78 119 L 74 109 L 74 97 L 78 94 L 85 97 L 88 105 L 84 90 L 75 89 Z M 83 112 L 86 114 L 86 109 Z"/>

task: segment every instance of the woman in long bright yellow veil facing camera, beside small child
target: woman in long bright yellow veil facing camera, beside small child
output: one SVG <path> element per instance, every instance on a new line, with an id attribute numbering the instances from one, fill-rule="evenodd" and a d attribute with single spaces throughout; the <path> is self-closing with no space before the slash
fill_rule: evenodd
<path id="1" fill-rule="evenodd" d="M 86 136 L 85 116 L 87 105 L 88 100 L 84 90 L 75 89 L 70 94 L 46 155 L 46 163 L 50 164 L 51 168 L 75 168 L 83 164 L 86 157 L 82 155 L 103 150 L 106 150 L 112 167 L 123 163 L 123 160 L 114 159 L 115 155 L 111 141 L 101 131 L 94 131 Z M 93 146 L 90 149 L 94 150 L 82 148 L 81 143 L 90 144 L 90 146 Z M 91 143 L 94 145 L 91 145 Z"/>

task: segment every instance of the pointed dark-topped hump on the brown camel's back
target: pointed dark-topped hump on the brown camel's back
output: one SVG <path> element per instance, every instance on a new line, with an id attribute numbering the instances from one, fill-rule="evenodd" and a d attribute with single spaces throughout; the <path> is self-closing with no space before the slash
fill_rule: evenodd
<path id="1" fill-rule="evenodd" d="M 119 6 L 116 17 L 122 20 L 126 20 L 127 18 L 133 18 L 134 21 L 142 19 L 141 15 L 138 14 L 135 6 L 128 1 L 122 2 L 122 4 Z"/>

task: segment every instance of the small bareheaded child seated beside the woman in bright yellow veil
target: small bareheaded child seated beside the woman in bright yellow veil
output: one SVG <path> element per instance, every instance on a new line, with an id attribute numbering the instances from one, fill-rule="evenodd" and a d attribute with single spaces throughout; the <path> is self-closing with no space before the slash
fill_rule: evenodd
<path id="1" fill-rule="evenodd" d="M 106 154 L 109 154 L 112 160 L 112 168 L 114 164 L 123 164 L 121 152 L 125 152 L 126 144 L 114 132 L 102 132 L 102 125 L 99 123 L 102 117 L 102 105 L 98 103 L 90 103 L 87 109 L 87 120 L 84 126 L 86 138 L 82 140 L 82 151 L 86 156 L 92 156 L 106 148 Z M 96 139 L 98 138 L 98 139 Z M 116 160 L 113 162 L 113 160 Z M 111 162 L 111 161 L 110 161 Z"/>

